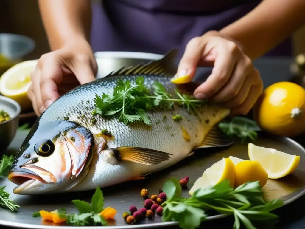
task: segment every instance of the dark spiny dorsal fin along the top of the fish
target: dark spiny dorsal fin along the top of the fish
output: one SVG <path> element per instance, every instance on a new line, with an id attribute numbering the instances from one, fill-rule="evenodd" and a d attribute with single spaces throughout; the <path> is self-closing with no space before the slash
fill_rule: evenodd
<path id="1" fill-rule="evenodd" d="M 178 50 L 173 49 L 166 53 L 160 60 L 152 60 L 147 64 L 141 63 L 131 67 L 122 67 L 103 78 L 121 75 L 159 75 L 171 78 L 177 73 L 177 66 L 175 63 L 177 53 Z"/>

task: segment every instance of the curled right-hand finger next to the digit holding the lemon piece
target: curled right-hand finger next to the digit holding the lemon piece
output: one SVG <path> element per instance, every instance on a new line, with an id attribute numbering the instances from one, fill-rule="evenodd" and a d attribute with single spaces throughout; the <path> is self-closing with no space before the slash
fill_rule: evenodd
<path id="1" fill-rule="evenodd" d="M 194 91 L 196 99 L 205 99 L 216 94 L 228 82 L 240 56 L 234 42 L 219 42 L 214 52 L 216 56 L 212 74 Z"/>

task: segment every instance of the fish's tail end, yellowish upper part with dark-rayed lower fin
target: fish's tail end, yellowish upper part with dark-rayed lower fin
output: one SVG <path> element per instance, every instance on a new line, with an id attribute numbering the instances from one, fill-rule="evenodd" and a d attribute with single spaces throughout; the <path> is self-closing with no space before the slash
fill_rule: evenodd
<path id="1" fill-rule="evenodd" d="M 204 137 L 203 142 L 199 148 L 210 147 L 226 147 L 233 144 L 235 141 L 226 136 L 218 127 L 218 123 L 226 118 L 230 113 L 229 109 L 205 107 L 203 108 L 203 118 L 201 122 L 207 135 Z"/>

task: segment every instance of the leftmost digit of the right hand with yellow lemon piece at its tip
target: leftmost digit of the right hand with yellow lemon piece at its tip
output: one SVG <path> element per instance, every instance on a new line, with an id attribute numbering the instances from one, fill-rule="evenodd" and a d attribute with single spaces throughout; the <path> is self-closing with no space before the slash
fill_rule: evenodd
<path id="1" fill-rule="evenodd" d="M 173 83 L 188 83 L 195 75 L 197 65 L 205 47 L 201 37 L 192 38 L 185 47 L 185 52 L 178 65 L 177 74 L 172 78 Z"/>

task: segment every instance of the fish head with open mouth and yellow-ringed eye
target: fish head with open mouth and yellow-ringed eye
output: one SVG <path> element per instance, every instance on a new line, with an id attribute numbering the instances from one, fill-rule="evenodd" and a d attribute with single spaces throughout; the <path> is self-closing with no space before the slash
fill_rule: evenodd
<path id="1" fill-rule="evenodd" d="M 76 122 L 36 122 L 16 153 L 8 179 L 15 194 L 42 194 L 72 186 L 92 158 L 92 133 Z"/>

